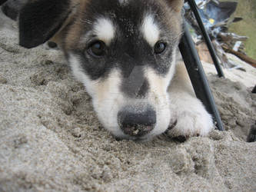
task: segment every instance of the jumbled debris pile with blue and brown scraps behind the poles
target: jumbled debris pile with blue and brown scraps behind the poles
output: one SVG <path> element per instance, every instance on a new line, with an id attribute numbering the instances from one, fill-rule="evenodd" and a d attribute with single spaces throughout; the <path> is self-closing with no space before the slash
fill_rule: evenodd
<path id="1" fill-rule="evenodd" d="M 244 41 L 247 41 L 248 37 L 228 31 L 228 27 L 232 22 L 240 22 L 243 19 L 234 17 L 238 2 L 219 2 L 218 0 L 195 0 L 195 2 L 198 5 L 204 27 L 208 31 L 208 35 L 224 68 L 240 68 L 240 66 L 228 59 L 226 52 L 236 55 L 256 67 L 256 61 L 249 58 L 244 51 Z M 188 2 L 185 2 L 185 18 L 194 31 L 196 45 L 200 45 L 203 43 L 201 29 Z"/>

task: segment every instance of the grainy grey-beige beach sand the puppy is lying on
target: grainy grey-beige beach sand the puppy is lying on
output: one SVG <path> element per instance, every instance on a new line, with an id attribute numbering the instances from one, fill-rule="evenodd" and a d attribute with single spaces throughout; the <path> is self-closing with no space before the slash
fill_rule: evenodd
<path id="1" fill-rule="evenodd" d="M 116 141 L 62 52 L 19 47 L 0 13 L 0 191 L 255 191 L 256 71 L 242 65 L 220 79 L 204 64 L 227 131 Z"/>

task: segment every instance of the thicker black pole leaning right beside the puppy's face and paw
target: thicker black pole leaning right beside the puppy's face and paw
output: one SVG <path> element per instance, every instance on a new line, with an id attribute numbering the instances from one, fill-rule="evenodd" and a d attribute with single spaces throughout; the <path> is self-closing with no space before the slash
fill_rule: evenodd
<path id="1" fill-rule="evenodd" d="M 181 38 L 179 49 L 188 70 L 189 78 L 191 79 L 191 83 L 197 98 L 202 101 L 207 111 L 214 118 L 218 130 L 224 131 L 220 114 L 218 113 L 213 95 L 211 94 L 208 80 L 204 74 L 204 69 L 201 66 L 198 52 L 194 47 L 194 41 L 191 38 L 186 23 L 184 24 L 184 35 Z"/>

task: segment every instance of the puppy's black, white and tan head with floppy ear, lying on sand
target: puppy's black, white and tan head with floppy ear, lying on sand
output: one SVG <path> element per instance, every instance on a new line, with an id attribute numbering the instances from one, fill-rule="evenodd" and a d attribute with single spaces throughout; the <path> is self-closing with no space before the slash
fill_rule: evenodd
<path id="1" fill-rule="evenodd" d="M 60 45 L 98 118 L 116 137 L 146 139 L 171 119 L 168 85 L 182 0 L 33 0 L 19 15 L 20 45 Z"/>

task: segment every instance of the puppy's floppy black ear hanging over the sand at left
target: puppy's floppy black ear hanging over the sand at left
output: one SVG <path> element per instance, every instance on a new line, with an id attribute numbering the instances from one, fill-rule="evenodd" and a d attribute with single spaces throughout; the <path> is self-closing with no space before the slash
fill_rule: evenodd
<path id="1" fill-rule="evenodd" d="M 52 38 L 74 12 L 72 0 L 31 0 L 18 18 L 19 45 L 35 48 Z"/>

